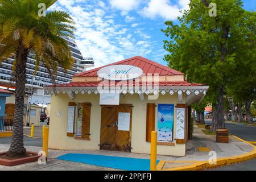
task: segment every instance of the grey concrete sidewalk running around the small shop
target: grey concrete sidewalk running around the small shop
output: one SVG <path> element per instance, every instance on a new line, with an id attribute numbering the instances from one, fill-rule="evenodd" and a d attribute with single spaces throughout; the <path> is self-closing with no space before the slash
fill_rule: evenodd
<path id="1" fill-rule="evenodd" d="M 229 143 L 216 143 L 215 136 L 207 136 L 194 125 L 193 140 L 189 140 L 187 143 L 187 155 L 186 156 L 163 156 L 158 155 L 160 160 L 158 164 L 159 170 L 179 170 L 179 169 L 194 169 L 191 166 L 199 166 L 203 162 L 209 160 L 209 152 L 199 152 L 197 147 L 209 147 L 211 151 L 216 151 L 217 158 L 228 158 L 238 155 L 246 155 L 254 150 L 254 147 L 245 143 L 236 137 L 230 136 Z M 0 151 L 8 150 L 9 145 L 0 144 Z M 41 147 L 26 146 L 28 151 L 40 151 Z M 117 151 L 102 151 L 102 150 L 49 150 L 49 158 L 46 165 L 39 165 L 37 162 L 22 164 L 20 166 L 5 167 L 0 166 L 0 170 L 117 170 L 106 167 L 92 166 L 89 164 L 68 162 L 64 160 L 56 159 L 58 156 L 76 153 L 76 154 L 97 154 L 97 155 L 109 155 L 109 156 L 123 156 L 127 158 L 142 158 L 150 159 L 150 155 L 147 154 L 134 154 L 129 152 L 117 152 Z"/>

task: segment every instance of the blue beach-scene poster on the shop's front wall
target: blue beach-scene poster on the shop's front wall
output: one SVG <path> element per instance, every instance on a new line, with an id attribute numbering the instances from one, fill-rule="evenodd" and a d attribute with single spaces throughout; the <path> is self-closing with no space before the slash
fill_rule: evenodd
<path id="1" fill-rule="evenodd" d="M 174 104 L 158 104 L 158 141 L 172 142 Z"/>

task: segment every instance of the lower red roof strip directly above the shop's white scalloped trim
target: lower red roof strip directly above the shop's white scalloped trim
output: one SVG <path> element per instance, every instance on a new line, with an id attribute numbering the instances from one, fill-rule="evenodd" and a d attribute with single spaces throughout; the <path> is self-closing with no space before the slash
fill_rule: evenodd
<path id="1" fill-rule="evenodd" d="M 69 84 L 58 84 L 58 85 L 53 85 L 53 86 L 57 86 L 57 87 L 71 87 L 71 86 L 98 86 L 100 83 L 102 83 L 102 86 L 103 85 L 108 85 L 108 86 L 112 86 L 112 85 L 109 85 L 110 82 L 101 82 L 101 81 L 88 81 L 88 82 L 71 82 Z M 115 81 L 115 84 L 113 86 L 128 86 L 127 84 L 129 84 L 129 82 L 127 81 Z M 146 84 L 146 83 L 144 83 Z M 157 84 L 157 83 L 156 83 Z M 147 83 L 147 86 L 149 84 Z M 151 84 L 152 86 L 154 86 L 154 82 L 152 82 Z M 158 86 L 204 86 L 206 84 L 191 84 L 189 82 L 186 82 L 186 81 L 174 81 L 174 82 L 158 82 Z M 131 85 L 129 85 L 131 86 Z M 133 82 L 133 86 L 135 86 L 135 83 Z M 139 85 L 136 85 L 136 86 L 143 86 L 143 82 L 139 82 Z"/>

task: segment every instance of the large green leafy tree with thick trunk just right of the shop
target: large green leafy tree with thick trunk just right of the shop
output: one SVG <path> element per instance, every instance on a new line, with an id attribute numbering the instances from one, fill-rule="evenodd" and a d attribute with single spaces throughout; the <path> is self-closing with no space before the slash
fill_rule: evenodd
<path id="1" fill-rule="evenodd" d="M 209 15 L 209 2 L 216 3 L 216 16 Z M 162 30 L 168 37 L 164 48 L 170 52 L 164 59 L 186 73 L 188 81 L 210 86 L 207 94 L 213 105 L 212 130 L 216 130 L 225 127 L 224 94 L 237 68 L 232 45 L 244 28 L 246 11 L 240 0 L 191 0 L 189 8 L 178 18 L 179 24 L 167 21 Z"/>

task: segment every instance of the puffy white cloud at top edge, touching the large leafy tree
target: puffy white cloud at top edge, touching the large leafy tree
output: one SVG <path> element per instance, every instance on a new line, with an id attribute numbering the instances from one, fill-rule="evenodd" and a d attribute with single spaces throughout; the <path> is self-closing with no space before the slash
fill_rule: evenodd
<path id="1" fill-rule="evenodd" d="M 179 0 L 177 5 L 172 5 L 170 0 L 150 0 L 141 11 L 141 15 L 155 19 L 158 16 L 164 19 L 175 20 L 180 16 L 180 10 L 188 9 L 189 0 Z"/>

